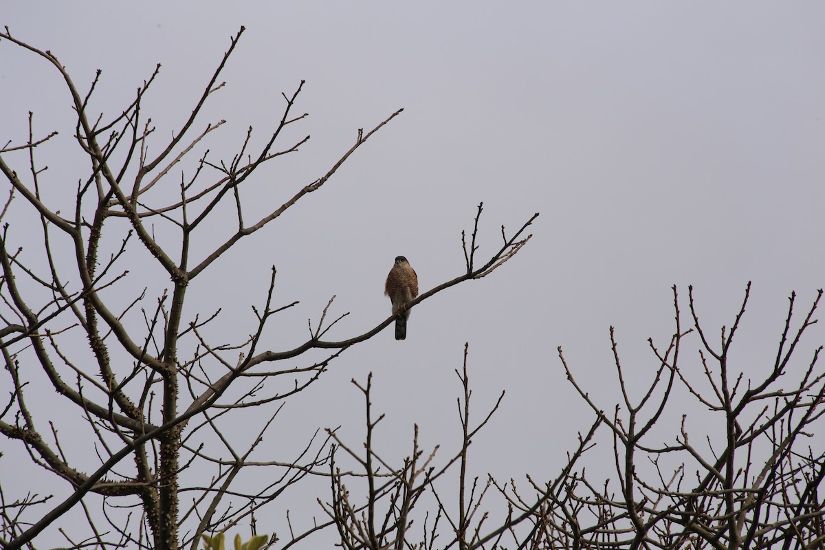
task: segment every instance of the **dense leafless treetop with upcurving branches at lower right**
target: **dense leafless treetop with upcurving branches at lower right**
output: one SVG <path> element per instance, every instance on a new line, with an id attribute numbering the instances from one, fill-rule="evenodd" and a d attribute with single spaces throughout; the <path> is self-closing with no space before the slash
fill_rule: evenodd
<path id="1" fill-rule="evenodd" d="M 750 289 L 748 283 L 742 308 L 714 345 L 692 288 L 690 327 L 684 327 L 674 286 L 675 330 L 664 350 L 649 341 L 658 368 L 646 388 L 625 380 L 611 327 L 621 401 L 610 413 L 577 382 L 559 348 L 573 388 L 610 430 L 615 476 L 598 482 L 577 467 L 552 491 L 530 480 L 538 499 L 522 498 L 515 485 L 500 487 L 517 510 L 532 513 L 530 532 L 514 534 L 520 548 L 823 548 L 818 487 L 825 445 L 815 435 L 825 411 L 825 372 L 817 365 L 822 347 L 807 360 L 794 360 L 816 322 L 822 290 L 795 330 L 791 294 L 772 368 L 764 378 L 751 378 L 746 373 L 755 365 L 736 368 L 731 355 Z M 686 359 L 691 336 L 698 337 L 698 361 Z M 705 409 L 718 420 L 704 421 L 691 434 L 683 413 L 672 440 L 662 441 L 661 430 L 654 435 L 653 428 L 668 406 L 675 407 L 680 390 L 699 406 L 682 411 Z M 544 500 L 538 510 L 536 500 Z"/>

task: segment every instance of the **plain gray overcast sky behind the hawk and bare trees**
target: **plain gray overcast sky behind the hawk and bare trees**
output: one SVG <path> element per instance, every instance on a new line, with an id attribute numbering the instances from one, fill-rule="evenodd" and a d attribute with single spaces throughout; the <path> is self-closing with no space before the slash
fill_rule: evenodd
<path id="1" fill-rule="evenodd" d="M 408 256 L 422 291 L 460 275 L 460 231 L 479 201 L 482 255 L 499 246 L 502 223 L 515 230 L 540 212 L 535 237 L 502 270 L 422 303 L 407 341 L 384 331 L 288 406 L 299 435 L 343 423 L 355 442 L 361 401 L 349 380 L 373 371 L 386 441 L 407 441 L 413 422 L 428 444 L 446 441 L 469 341 L 479 414 L 507 390 L 474 465 L 505 478 L 549 475 L 589 426 L 556 347 L 612 407 L 608 327 L 629 371 L 648 375 L 647 337 L 664 346 L 672 331 L 672 284 L 683 299 L 694 285 L 717 333 L 752 280 L 738 368 L 771 364 L 787 296 L 795 289 L 807 304 L 823 286 L 823 21 L 822 2 L 5 2 L 0 14 L 78 87 L 101 68 L 94 106 L 107 115 L 162 63 L 144 106 L 160 136 L 186 120 L 246 26 L 227 86 L 200 119 L 228 120 L 208 147 L 231 158 L 248 125 L 262 143 L 281 92 L 301 79 L 295 109 L 310 116 L 281 143 L 312 134 L 259 176 L 248 219 L 326 172 L 356 129 L 404 107 L 322 191 L 191 290 L 202 297 L 192 314 L 224 308 L 219 327 L 237 331 L 228 341 L 251 330 L 249 305 L 261 303 L 272 264 L 281 301 L 301 305 L 271 349 L 300 341 L 332 294 L 335 313 L 351 312 L 331 336 L 344 338 L 389 314 L 394 256 Z M 25 139 L 29 110 L 40 134 L 61 131 L 38 154 L 54 196 L 71 192 L 85 164 L 57 73 L 0 43 L 0 97 L 2 143 Z M 227 223 L 196 247 L 229 235 Z"/>

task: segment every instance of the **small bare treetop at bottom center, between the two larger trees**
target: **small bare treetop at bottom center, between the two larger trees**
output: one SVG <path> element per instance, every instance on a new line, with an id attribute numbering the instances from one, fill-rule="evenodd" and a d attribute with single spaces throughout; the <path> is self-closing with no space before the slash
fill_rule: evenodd
<path id="1" fill-rule="evenodd" d="M 358 452 L 332 431 L 328 433 L 336 441 L 333 451 L 354 458 L 356 468 L 361 468 L 365 475 L 350 477 L 351 483 L 347 484 L 342 469 L 337 468 L 337 454 L 333 452 L 330 460 L 332 498 L 331 501 L 320 502 L 331 523 L 337 527 L 342 548 L 507 548 L 505 535 L 515 534 L 521 524 L 528 525 L 530 530 L 530 520 L 546 507 L 553 491 L 558 490 L 592 444 L 592 437 L 601 425 L 599 419 L 594 421 L 587 435 L 579 438 L 577 449 L 568 456 L 568 463 L 559 477 L 549 484 L 546 491 L 535 496 L 524 510 L 517 510 L 507 499 L 488 505 L 485 497 L 496 482 L 493 477 L 469 479 L 469 447 L 498 410 L 504 392 L 479 421 L 470 420 L 473 392 L 469 383 L 468 349 L 465 344 L 463 368 L 455 371 L 462 390 L 457 400 L 460 437 L 455 438 L 458 444 L 452 452 L 447 450 L 448 455 L 443 462 L 437 458 L 440 447 L 428 449 L 427 452 L 419 447 L 418 427 L 415 426 L 413 449 L 408 458 L 398 467 L 387 463 L 377 450 L 380 444 L 376 442 L 375 431 L 384 416 L 375 418 L 372 412 L 371 374 L 365 386 L 352 381 L 361 390 L 366 402 L 364 449 Z M 367 487 L 361 491 L 363 501 L 356 501 L 351 490 L 356 485 L 364 484 Z M 452 493 L 453 504 L 448 500 L 448 493 Z M 425 494 L 430 499 L 421 506 L 420 501 L 425 500 Z M 417 520 L 420 528 L 415 523 Z"/>

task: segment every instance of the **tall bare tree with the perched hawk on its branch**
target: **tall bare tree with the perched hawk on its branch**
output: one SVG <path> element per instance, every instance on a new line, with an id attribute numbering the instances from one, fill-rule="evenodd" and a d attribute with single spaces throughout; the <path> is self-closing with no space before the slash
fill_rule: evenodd
<path id="1" fill-rule="evenodd" d="M 159 66 L 134 99 L 106 119 L 92 110 L 99 71 L 83 94 L 57 56 L 17 39 L 8 28 L 0 33 L 0 39 L 44 59 L 63 78 L 77 117 L 78 154 L 88 164 L 73 202 L 53 204 L 52 186 L 66 182 L 43 176 L 45 167 L 37 161 L 35 149 L 55 133 L 36 136 L 30 114 L 25 142 L 10 141 L 0 149 L 0 170 L 11 185 L 2 216 L 11 215 L 13 205 L 19 203 L 12 203 L 17 197 L 34 207 L 27 210 L 34 212 L 34 218 L 24 229 L 31 234 L 38 228 L 43 255 L 40 264 L 31 261 L 14 244 L 21 241 L 21 228 L 6 223 L 0 236 L 5 322 L 0 328 L 0 350 L 9 380 L 3 387 L 9 391 L 0 408 L 0 433 L 7 444 L 21 445 L 33 463 L 68 486 L 68 496 L 59 502 L 53 495 L 11 495 L 0 487 L 0 544 L 4 548 L 31 544 L 69 510 L 82 510 L 88 523 L 88 535 L 82 540 L 65 534 L 72 548 L 196 548 L 200 534 L 252 520 L 262 506 L 309 475 L 340 480 L 340 472 L 330 473 L 328 468 L 332 432 L 309 435 L 305 449 L 290 461 L 256 462 L 252 454 L 280 409 L 266 413 L 270 421 L 245 449 L 233 447 L 218 419 L 248 407 L 271 411 L 262 406 L 309 388 L 343 350 L 375 336 L 394 317 L 376 320 L 375 327 L 363 334 L 328 341 L 324 337 L 329 329 L 344 317 L 328 318 L 328 306 L 299 346 L 266 350 L 262 341 L 266 323 L 297 303 L 275 303 L 274 267 L 268 291 L 253 306 L 256 321 L 245 341 L 210 341 L 205 327 L 219 316 L 201 318 L 195 308 L 187 309 L 187 290 L 243 237 L 265 228 L 304 195 L 320 190 L 351 154 L 402 110 L 373 129 L 359 129 L 355 143 L 323 175 L 299 186 L 281 207 L 248 223 L 239 190 L 263 164 L 295 153 L 309 139 L 280 144 L 282 130 L 305 116 L 294 113 L 304 82 L 295 92 L 283 94 L 281 120 L 262 148 L 252 151 L 250 128 L 231 160 L 213 160 L 206 150 L 189 172 L 182 168 L 182 162 L 203 148 L 208 136 L 224 124 L 222 120 L 196 129 L 205 102 L 223 86 L 219 76 L 242 34 L 243 27 L 232 38 L 191 115 L 172 139 L 161 143 L 160 153 L 150 157 L 148 145 L 159 139 L 143 105 Z M 26 169 L 20 165 L 27 165 Z M 173 173 L 177 169 L 179 176 Z M 170 188 L 175 192 L 170 194 Z M 192 237 L 224 203 L 237 214 L 237 228 L 204 255 L 196 254 Z M 502 227 L 501 247 L 479 265 L 476 235 L 481 209 L 479 205 L 472 236 L 465 244 L 466 271 L 421 294 L 408 307 L 455 284 L 488 275 L 530 239 L 525 230 L 535 216 L 509 237 Z M 171 280 L 168 289 L 153 296 L 143 282 L 130 278 L 125 266 L 134 261 L 130 252 L 135 249 L 148 251 L 143 258 L 150 257 Z M 68 261 L 66 251 L 70 252 Z M 78 350 L 74 345 L 78 341 L 86 341 L 91 351 Z M 317 359 L 318 350 L 326 355 Z M 301 358 L 304 366 L 295 366 Z M 83 441 L 96 458 L 78 463 L 78 453 L 67 451 L 66 437 L 44 418 L 42 407 L 36 404 L 39 397 L 26 399 L 40 395 L 31 387 L 40 382 L 85 416 L 85 434 L 73 430 L 70 438 Z M 232 458 L 219 458 L 225 453 Z M 195 470 L 209 471 L 201 468 L 214 472 L 208 482 L 202 473 L 195 480 L 187 477 Z M 236 481 L 248 468 L 266 468 L 262 478 L 271 481 L 254 490 L 238 488 Z M 184 493 L 189 495 L 186 501 L 181 500 Z M 93 510 L 93 505 L 99 509 Z"/>

